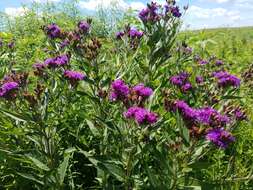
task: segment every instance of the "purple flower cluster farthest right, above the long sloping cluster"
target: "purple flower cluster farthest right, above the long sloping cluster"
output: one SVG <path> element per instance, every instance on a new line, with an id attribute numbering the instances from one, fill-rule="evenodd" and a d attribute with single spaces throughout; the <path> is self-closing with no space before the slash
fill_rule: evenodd
<path id="1" fill-rule="evenodd" d="M 218 79 L 218 85 L 220 87 L 228 87 L 228 86 L 233 86 L 233 87 L 239 87 L 240 86 L 240 79 L 237 78 L 234 75 L 231 75 L 227 73 L 226 71 L 219 71 L 213 73 L 213 76 Z"/>

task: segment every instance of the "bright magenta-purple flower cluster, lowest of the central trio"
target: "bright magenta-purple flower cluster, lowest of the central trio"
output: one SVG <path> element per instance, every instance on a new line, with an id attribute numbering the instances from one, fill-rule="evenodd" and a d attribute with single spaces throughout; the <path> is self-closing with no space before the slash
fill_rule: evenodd
<path id="1" fill-rule="evenodd" d="M 157 122 L 157 114 L 146 110 L 141 107 L 130 107 L 126 112 L 124 112 L 124 116 L 127 119 L 135 119 L 138 124 L 153 124 Z"/>

